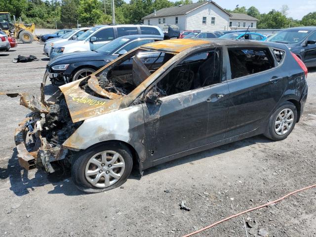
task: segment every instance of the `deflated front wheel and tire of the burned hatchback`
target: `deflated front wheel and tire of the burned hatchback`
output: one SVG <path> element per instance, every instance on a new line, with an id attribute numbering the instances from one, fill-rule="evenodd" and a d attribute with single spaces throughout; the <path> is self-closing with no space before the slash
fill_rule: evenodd
<path id="1" fill-rule="evenodd" d="M 104 159 L 102 154 L 106 154 Z M 77 157 L 72 164 L 72 179 L 77 188 L 86 193 L 100 193 L 121 186 L 126 182 L 133 167 L 132 154 L 122 143 L 101 143 L 80 152 Z M 114 165 L 118 168 L 113 168 Z"/>

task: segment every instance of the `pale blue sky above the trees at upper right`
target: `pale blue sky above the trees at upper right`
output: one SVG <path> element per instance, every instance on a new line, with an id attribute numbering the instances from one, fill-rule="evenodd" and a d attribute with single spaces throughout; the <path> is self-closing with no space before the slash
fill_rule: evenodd
<path id="1" fill-rule="evenodd" d="M 255 6 L 260 13 L 268 13 L 271 9 L 280 10 L 282 5 L 288 5 L 287 17 L 301 20 L 306 14 L 316 11 L 316 0 L 214 0 L 218 5 L 226 9 Z M 197 2 L 197 0 L 193 0 Z"/>

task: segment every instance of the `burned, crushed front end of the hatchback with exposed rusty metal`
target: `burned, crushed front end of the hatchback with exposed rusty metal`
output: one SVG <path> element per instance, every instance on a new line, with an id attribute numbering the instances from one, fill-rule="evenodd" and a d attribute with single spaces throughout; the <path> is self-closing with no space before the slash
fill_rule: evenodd
<path id="1" fill-rule="evenodd" d="M 29 170 L 37 166 L 52 173 L 61 166 L 70 165 L 73 151 L 62 144 L 79 127 L 70 117 L 64 95 L 58 91 L 46 102 L 27 93 L 6 93 L 20 96 L 20 104 L 33 112 L 15 130 L 15 144 L 19 163 Z"/>

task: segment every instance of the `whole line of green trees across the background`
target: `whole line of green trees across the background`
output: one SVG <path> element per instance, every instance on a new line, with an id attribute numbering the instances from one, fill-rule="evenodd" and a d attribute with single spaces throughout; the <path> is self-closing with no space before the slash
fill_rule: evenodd
<path id="1" fill-rule="evenodd" d="M 199 2 L 204 0 L 198 0 Z M 192 0 L 115 0 L 117 24 L 141 23 L 142 17 L 164 7 L 191 4 Z M 302 20 L 287 17 L 288 7 L 272 9 L 268 13 L 251 6 L 236 6 L 228 12 L 244 13 L 259 19 L 258 29 L 279 29 L 296 26 L 316 26 L 316 12 L 310 12 Z M 35 23 L 37 27 L 64 28 L 109 24 L 112 22 L 111 0 L 1 0 L 0 11 L 8 11 L 25 23 Z"/>

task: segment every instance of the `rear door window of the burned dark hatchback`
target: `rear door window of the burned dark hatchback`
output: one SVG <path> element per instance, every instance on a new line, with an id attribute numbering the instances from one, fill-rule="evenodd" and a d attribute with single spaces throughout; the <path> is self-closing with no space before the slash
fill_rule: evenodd
<path id="1" fill-rule="evenodd" d="M 260 73 L 274 67 L 269 50 L 252 48 L 228 49 L 232 79 Z"/>

